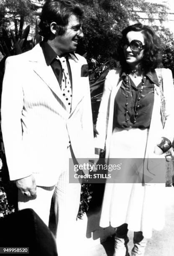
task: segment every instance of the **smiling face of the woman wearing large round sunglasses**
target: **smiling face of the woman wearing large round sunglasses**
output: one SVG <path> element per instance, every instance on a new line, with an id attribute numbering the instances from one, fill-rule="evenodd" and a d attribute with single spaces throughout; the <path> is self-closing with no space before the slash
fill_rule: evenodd
<path id="1" fill-rule="evenodd" d="M 131 47 L 129 44 L 133 40 L 135 40 L 135 42 L 138 40 L 144 46 L 144 36 L 141 31 L 129 31 L 126 35 L 126 38 L 127 43 L 125 43 L 123 46 L 125 60 L 130 67 L 134 68 L 141 62 L 144 50 L 140 48 L 140 51 L 133 51 L 133 47 Z"/>

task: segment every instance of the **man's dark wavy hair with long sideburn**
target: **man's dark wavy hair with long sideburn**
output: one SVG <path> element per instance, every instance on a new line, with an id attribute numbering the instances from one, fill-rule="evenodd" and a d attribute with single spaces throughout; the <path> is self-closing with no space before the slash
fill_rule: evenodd
<path id="1" fill-rule="evenodd" d="M 81 22 L 84 17 L 84 10 L 74 0 L 47 0 L 44 3 L 39 23 L 39 34 L 44 38 L 51 35 L 50 24 L 56 22 L 57 35 L 61 36 L 65 33 L 69 18 L 75 15 Z"/>

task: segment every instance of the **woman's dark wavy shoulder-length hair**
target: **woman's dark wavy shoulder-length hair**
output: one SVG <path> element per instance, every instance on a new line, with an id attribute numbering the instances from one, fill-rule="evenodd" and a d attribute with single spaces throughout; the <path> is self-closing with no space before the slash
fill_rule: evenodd
<path id="1" fill-rule="evenodd" d="M 136 23 L 134 25 L 128 26 L 122 31 L 122 37 L 118 42 L 117 52 L 115 54 L 115 59 L 120 61 L 120 65 L 123 69 L 128 69 L 128 65 L 125 61 L 125 56 L 123 52 L 124 42 L 126 40 L 126 35 L 130 31 L 141 31 L 144 36 L 144 52 L 139 68 L 143 69 L 145 72 L 161 67 L 161 47 L 159 40 L 150 26 L 142 25 L 141 23 Z"/>

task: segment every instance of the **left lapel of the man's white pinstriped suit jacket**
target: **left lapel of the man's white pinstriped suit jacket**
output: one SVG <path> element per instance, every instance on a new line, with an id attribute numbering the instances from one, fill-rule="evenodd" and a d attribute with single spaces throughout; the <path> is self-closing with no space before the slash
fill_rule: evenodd
<path id="1" fill-rule="evenodd" d="M 33 62 L 32 65 L 34 72 L 36 72 L 36 74 L 38 74 L 38 76 L 48 85 L 51 91 L 59 97 L 62 102 L 62 107 L 65 110 L 65 99 L 62 95 L 59 83 L 51 66 L 46 65 L 44 54 L 39 44 L 33 48 L 32 53 L 33 54 L 31 54 L 29 61 Z"/>

